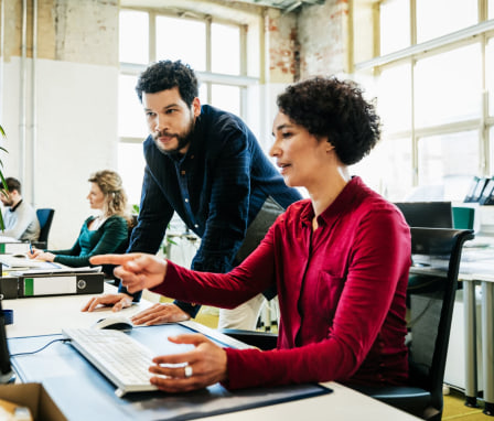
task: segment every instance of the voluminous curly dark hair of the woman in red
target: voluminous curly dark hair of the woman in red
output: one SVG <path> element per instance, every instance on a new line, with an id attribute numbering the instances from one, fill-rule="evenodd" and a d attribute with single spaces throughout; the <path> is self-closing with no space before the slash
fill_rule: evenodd
<path id="1" fill-rule="evenodd" d="M 311 134 L 327 137 L 345 165 L 361 161 L 380 137 L 373 104 L 352 80 L 314 77 L 290 85 L 278 96 L 279 110 Z"/>

